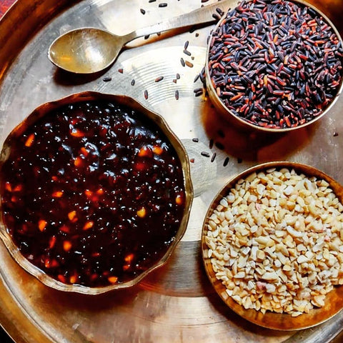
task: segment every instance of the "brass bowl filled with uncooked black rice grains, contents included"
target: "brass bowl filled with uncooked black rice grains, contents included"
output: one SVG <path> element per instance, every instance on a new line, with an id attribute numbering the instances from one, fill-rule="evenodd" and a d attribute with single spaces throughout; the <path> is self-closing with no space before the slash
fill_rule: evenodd
<path id="1" fill-rule="evenodd" d="M 342 38 L 304 1 L 242 1 L 209 37 L 206 81 L 225 119 L 289 131 L 322 118 L 342 92 Z"/>

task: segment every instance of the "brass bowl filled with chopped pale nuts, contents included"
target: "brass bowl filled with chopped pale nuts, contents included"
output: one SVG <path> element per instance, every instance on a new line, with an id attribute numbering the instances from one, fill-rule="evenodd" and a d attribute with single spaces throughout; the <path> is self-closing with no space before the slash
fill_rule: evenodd
<path id="1" fill-rule="evenodd" d="M 343 188 L 312 166 L 260 164 L 229 181 L 202 229 L 225 304 L 269 329 L 313 327 L 343 307 Z"/>

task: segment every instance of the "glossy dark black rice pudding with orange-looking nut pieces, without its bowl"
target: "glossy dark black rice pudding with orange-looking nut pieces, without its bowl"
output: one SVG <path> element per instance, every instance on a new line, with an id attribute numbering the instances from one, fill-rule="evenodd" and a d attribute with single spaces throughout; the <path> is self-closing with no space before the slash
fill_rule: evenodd
<path id="1" fill-rule="evenodd" d="M 9 146 L 3 222 L 21 254 L 53 279 L 126 282 L 174 241 L 185 209 L 182 162 L 139 111 L 108 101 L 61 106 Z"/>

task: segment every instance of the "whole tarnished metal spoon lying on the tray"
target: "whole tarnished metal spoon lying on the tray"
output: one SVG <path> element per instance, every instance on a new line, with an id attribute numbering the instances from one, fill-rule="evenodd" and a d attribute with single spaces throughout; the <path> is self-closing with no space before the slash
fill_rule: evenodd
<path id="1" fill-rule="evenodd" d="M 170 29 L 215 21 L 217 8 L 225 13 L 235 1 L 226 0 L 204 6 L 181 16 L 161 21 L 158 24 L 137 29 L 124 36 L 109 31 L 84 27 L 59 36 L 49 47 L 50 61 L 61 69 L 76 74 L 91 74 L 106 69 L 116 60 L 126 43 L 141 36 L 156 34 Z"/>

